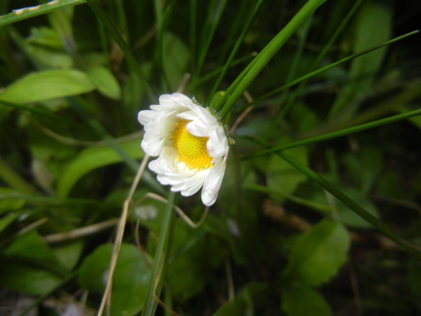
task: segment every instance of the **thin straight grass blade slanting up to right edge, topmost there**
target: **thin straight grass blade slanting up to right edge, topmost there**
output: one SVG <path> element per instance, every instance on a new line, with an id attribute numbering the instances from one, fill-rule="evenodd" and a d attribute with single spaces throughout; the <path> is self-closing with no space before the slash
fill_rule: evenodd
<path id="1" fill-rule="evenodd" d="M 345 62 L 345 61 L 348 61 L 348 60 L 350 60 L 350 59 L 353 59 L 353 58 L 359 57 L 359 56 L 361 56 L 361 55 L 367 54 L 367 53 L 369 53 L 369 52 L 371 52 L 371 51 L 373 51 L 373 50 L 379 49 L 379 48 L 381 48 L 381 47 L 383 47 L 383 46 L 386 46 L 386 45 L 389 45 L 389 44 L 395 43 L 395 42 L 397 42 L 397 41 L 403 40 L 404 38 L 406 38 L 406 37 L 408 37 L 408 36 L 411 36 L 411 35 L 414 35 L 414 34 L 416 34 L 416 33 L 418 33 L 418 32 L 419 32 L 419 30 L 414 30 L 414 31 L 412 31 L 412 32 L 409 32 L 409 33 L 406 33 L 406 34 L 404 34 L 404 35 L 398 36 L 398 37 L 396 37 L 396 38 L 394 38 L 394 39 L 392 39 L 392 40 L 390 40 L 390 41 L 384 42 L 384 43 L 379 44 L 379 45 L 372 46 L 372 47 L 367 48 L 367 49 L 365 49 L 365 50 L 362 50 L 362 51 L 360 51 L 360 52 L 358 52 L 358 53 L 355 53 L 355 54 L 349 55 L 349 56 L 347 56 L 347 57 L 345 57 L 345 58 L 342 58 L 342 59 L 340 59 L 340 60 L 338 60 L 338 61 L 334 62 L 333 64 L 330 64 L 330 65 L 328 65 L 328 66 L 325 66 L 325 67 L 319 68 L 319 69 L 317 69 L 317 70 L 315 70 L 315 71 L 312 71 L 312 72 L 308 73 L 307 75 L 304 75 L 304 76 L 302 76 L 302 77 L 300 77 L 300 78 L 297 78 L 297 79 L 295 79 L 295 80 L 293 80 L 293 81 L 291 81 L 291 82 L 288 82 L 287 84 L 284 84 L 284 85 L 280 86 L 279 88 L 276 88 L 276 89 L 274 89 L 274 90 L 272 90 L 272 91 L 270 91 L 270 92 L 268 92 L 268 93 L 265 93 L 263 96 L 256 98 L 256 99 L 252 102 L 252 104 L 255 104 L 255 103 L 257 103 L 257 102 L 259 102 L 259 101 L 261 101 L 261 100 L 267 99 L 267 98 L 269 98 L 269 97 L 273 96 L 274 94 L 276 94 L 276 93 L 278 93 L 278 92 L 282 91 L 283 89 L 289 88 L 290 86 L 293 86 L 293 85 L 295 85 L 295 84 L 297 84 L 297 83 L 300 83 L 301 81 L 304 81 L 304 80 L 307 80 L 307 79 L 309 79 L 309 78 L 311 78 L 311 77 L 314 77 L 315 75 L 318 75 L 318 74 L 320 74 L 320 73 L 322 73 L 322 72 L 324 72 L 324 71 L 327 71 L 327 70 L 329 70 L 329 69 L 331 69 L 331 68 L 333 68 L 333 67 L 335 67 L 335 66 L 338 66 L 338 65 L 342 64 L 342 63 L 343 63 L 343 62 Z M 248 106 L 248 105 L 247 105 L 247 106 Z"/>

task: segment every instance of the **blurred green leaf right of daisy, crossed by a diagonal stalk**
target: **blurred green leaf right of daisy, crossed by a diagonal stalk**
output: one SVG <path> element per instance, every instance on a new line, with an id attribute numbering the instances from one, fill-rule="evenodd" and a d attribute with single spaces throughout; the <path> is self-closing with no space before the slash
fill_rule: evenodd
<path id="1" fill-rule="evenodd" d="M 306 147 L 296 147 L 285 150 L 285 152 L 294 156 L 299 162 L 307 166 Z M 301 182 L 307 180 L 307 177 L 303 173 L 276 154 L 270 156 L 266 174 L 268 188 L 274 191 L 282 191 L 286 195 L 292 194 Z M 279 203 L 284 201 L 283 195 L 271 194 L 270 196 Z"/>

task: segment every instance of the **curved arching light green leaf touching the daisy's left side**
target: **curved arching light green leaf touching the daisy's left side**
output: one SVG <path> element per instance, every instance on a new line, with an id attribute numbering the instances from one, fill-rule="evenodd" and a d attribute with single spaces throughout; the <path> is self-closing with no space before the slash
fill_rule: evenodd
<path id="1" fill-rule="evenodd" d="M 139 139 L 130 140 L 120 145 L 135 159 L 144 156 Z M 58 197 L 67 197 L 73 185 L 89 171 L 121 161 L 121 156 L 111 147 L 98 146 L 86 148 L 70 163 L 69 167 L 59 179 L 57 187 Z"/>

